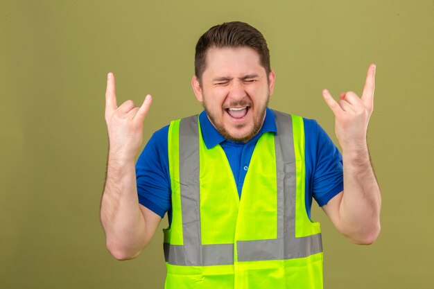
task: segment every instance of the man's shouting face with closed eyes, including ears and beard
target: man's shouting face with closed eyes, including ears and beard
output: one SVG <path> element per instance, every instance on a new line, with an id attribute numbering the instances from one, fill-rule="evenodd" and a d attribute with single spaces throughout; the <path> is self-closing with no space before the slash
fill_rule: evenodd
<path id="1" fill-rule="evenodd" d="M 248 47 L 207 51 L 202 82 L 191 85 L 216 130 L 226 139 L 248 141 L 261 129 L 275 74 L 261 66 L 259 54 Z"/>

